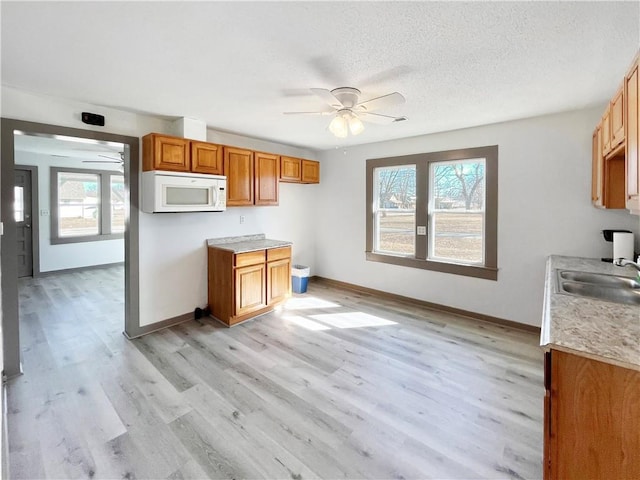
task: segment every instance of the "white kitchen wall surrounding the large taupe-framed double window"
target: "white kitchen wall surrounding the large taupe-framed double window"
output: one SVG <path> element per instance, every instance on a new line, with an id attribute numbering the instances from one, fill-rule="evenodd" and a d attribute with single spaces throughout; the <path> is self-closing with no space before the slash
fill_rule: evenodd
<path id="1" fill-rule="evenodd" d="M 604 107 L 321 154 L 316 274 L 441 305 L 540 325 L 548 255 L 607 257 L 603 228 L 636 233 L 625 211 L 591 206 L 591 133 Z M 386 128 L 393 128 L 389 126 Z M 499 146 L 498 281 L 365 260 L 368 158 Z"/>

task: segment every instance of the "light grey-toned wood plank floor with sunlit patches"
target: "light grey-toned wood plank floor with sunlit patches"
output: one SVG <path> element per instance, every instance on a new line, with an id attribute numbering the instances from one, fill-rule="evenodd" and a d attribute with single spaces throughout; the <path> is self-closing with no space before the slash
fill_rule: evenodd
<path id="1" fill-rule="evenodd" d="M 121 268 L 20 281 L 11 478 L 541 478 L 531 333 L 311 284 L 127 341 Z"/>

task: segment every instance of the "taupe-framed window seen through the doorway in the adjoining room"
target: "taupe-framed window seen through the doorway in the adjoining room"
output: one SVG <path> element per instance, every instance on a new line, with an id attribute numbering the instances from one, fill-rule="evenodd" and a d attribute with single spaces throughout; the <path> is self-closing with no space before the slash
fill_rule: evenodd
<path id="1" fill-rule="evenodd" d="M 51 168 L 51 243 L 123 238 L 124 176 L 107 170 Z"/>

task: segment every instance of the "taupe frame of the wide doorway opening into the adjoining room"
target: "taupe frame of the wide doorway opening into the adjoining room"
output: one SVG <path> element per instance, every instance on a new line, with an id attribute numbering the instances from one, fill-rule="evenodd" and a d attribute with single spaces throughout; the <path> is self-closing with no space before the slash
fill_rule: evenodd
<path id="1" fill-rule="evenodd" d="M 2 272 L 2 333 L 4 376 L 12 378 L 22 373 L 20 362 L 20 322 L 18 310 L 18 271 L 16 225 L 13 218 L 14 131 L 29 134 L 86 138 L 124 144 L 124 181 L 129 196 L 128 218 L 124 233 L 124 332 L 132 338 L 140 335 L 140 255 L 139 255 L 139 182 L 140 140 L 138 137 L 62 127 L 45 123 L 2 118 L 0 128 L 0 221 L 4 234 L 0 243 Z"/>

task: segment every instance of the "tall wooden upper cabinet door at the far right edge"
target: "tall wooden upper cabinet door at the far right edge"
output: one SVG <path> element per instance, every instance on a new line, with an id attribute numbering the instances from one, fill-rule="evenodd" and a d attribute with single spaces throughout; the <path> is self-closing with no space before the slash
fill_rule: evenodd
<path id="1" fill-rule="evenodd" d="M 626 137 L 626 207 L 640 212 L 640 85 L 638 84 L 638 61 L 625 78 L 625 137 Z"/>

